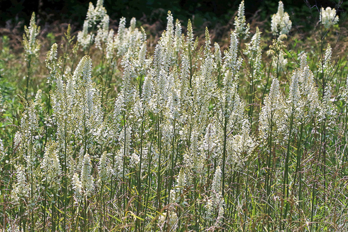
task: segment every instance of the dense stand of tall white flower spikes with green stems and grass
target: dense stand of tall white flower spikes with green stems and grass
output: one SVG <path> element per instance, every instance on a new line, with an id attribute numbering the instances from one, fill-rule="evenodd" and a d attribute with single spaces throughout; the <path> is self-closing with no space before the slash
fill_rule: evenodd
<path id="1" fill-rule="evenodd" d="M 114 31 L 103 1 L 89 3 L 76 38 L 69 26 L 45 51 L 40 81 L 33 13 L 21 106 L 0 101 L 14 128 L 0 139 L 0 228 L 348 230 L 347 61 L 325 36 L 316 55 L 291 50 L 281 1 L 270 28 L 244 10 L 223 51 L 170 11 L 151 49 L 135 18 Z M 321 8 L 322 31 L 338 22 Z"/>

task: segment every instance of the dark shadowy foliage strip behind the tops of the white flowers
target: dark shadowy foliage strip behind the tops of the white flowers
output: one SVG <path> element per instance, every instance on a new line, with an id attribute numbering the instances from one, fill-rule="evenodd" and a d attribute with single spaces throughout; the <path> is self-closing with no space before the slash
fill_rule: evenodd
<path id="1" fill-rule="evenodd" d="M 47 23 L 58 20 L 82 26 L 89 1 L 94 5 L 96 3 L 96 0 L 0 0 L 0 26 L 8 20 L 12 23 L 24 20 L 28 24 L 33 11 Z M 104 0 L 111 19 L 126 17 L 129 21 L 131 17 L 136 17 L 152 24 L 158 20 L 165 21 L 167 11 L 171 10 L 174 18 L 184 21 L 194 18 L 196 27 L 204 21 L 213 26 L 228 22 L 238 10 L 239 3 L 240 0 Z M 348 8 L 348 1 L 343 0 L 283 0 L 283 3 L 290 18 L 294 14 L 301 18 L 317 14 L 322 5 L 341 10 Z M 258 16 L 260 20 L 265 20 L 277 11 L 278 0 L 245 0 L 245 6 L 247 18 Z"/>

